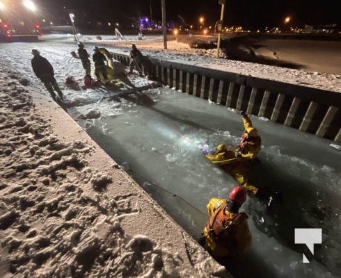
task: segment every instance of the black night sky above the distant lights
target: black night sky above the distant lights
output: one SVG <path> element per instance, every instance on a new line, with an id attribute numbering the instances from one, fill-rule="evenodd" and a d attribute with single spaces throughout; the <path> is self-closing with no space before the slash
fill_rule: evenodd
<path id="1" fill-rule="evenodd" d="M 165 0 L 167 21 L 181 23 L 181 15 L 188 24 L 198 24 L 200 16 L 205 24 L 219 19 L 218 0 Z M 76 16 L 86 20 L 124 22 L 142 15 L 161 20 L 161 0 L 35 0 L 39 5 L 66 6 Z M 285 17 L 292 17 L 292 26 L 304 24 L 341 24 L 340 0 L 231 0 L 226 1 L 224 23 L 228 26 L 261 28 L 280 26 Z M 50 9 L 49 9 L 50 10 Z"/>

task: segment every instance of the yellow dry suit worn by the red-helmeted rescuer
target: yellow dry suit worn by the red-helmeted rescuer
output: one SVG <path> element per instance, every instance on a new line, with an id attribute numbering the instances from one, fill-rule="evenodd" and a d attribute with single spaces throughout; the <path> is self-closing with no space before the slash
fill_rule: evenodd
<path id="1" fill-rule="evenodd" d="M 227 202 L 228 200 L 226 199 L 210 199 L 207 204 L 209 217 L 211 218 L 212 215 L 214 215 L 214 212 L 222 205 L 227 204 Z M 227 219 L 232 219 L 237 213 L 231 213 L 225 209 L 225 215 Z M 214 256 L 239 256 L 246 252 L 252 243 L 252 236 L 248 229 L 248 222 L 246 219 L 232 229 L 230 233 L 231 243 L 228 244 L 230 247 L 221 243 L 217 244 L 215 240 L 209 236 L 207 227 L 204 229 L 203 236 L 205 237 L 205 249 L 209 250 Z"/>

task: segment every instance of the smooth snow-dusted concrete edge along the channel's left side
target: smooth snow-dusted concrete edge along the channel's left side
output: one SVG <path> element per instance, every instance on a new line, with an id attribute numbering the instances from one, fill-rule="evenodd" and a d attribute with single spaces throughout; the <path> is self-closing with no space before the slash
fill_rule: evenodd
<path id="1" fill-rule="evenodd" d="M 32 97 L 36 113 L 49 119 L 53 133 L 65 142 L 86 141 L 93 149 L 86 158 L 89 167 L 100 169 L 113 178 L 113 182 L 103 193 L 89 194 L 106 194 L 113 197 L 131 194 L 130 201 L 138 208 L 138 213 L 129 215 L 129 218 L 135 218 L 134 221 L 130 219 L 126 222 L 123 218 L 120 222 L 127 236 L 143 234 L 160 248 L 180 256 L 183 262 L 180 268 L 187 273 L 191 272 L 193 274 L 191 277 L 232 277 L 148 193 L 145 193 L 141 186 L 120 169 L 63 108 L 38 92 L 32 92 Z M 148 222 L 145 219 L 148 219 Z"/>

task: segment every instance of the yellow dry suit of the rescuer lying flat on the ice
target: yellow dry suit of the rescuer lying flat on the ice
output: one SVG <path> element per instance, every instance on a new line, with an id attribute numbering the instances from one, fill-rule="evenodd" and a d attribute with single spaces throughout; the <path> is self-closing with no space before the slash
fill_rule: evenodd
<path id="1" fill-rule="evenodd" d="M 218 152 L 217 154 L 206 154 L 206 157 L 212 162 L 228 161 L 229 159 L 236 158 L 235 154 L 228 149 Z M 235 161 L 232 163 L 221 165 L 219 165 L 219 163 L 216 164 L 218 164 L 225 172 L 230 173 L 242 187 L 250 191 L 253 195 L 256 195 L 258 188 L 248 182 L 248 166 L 250 163 L 251 162 L 248 160 L 241 159 L 240 161 Z"/>

